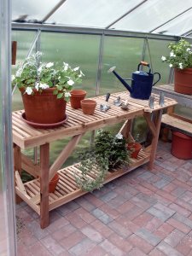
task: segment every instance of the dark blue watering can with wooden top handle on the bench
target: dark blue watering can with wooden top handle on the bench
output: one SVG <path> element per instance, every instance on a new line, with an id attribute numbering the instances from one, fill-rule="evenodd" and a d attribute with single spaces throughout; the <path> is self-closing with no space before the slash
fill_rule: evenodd
<path id="1" fill-rule="evenodd" d="M 141 66 L 148 67 L 148 72 L 140 71 Z M 118 73 L 114 71 L 116 67 L 111 67 L 108 73 L 113 73 L 119 81 L 124 84 L 125 88 L 129 90 L 131 97 L 135 99 L 148 100 L 151 95 L 152 86 L 160 81 L 160 73 L 151 73 L 151 68 L 148 62 L 141 61 L 138 64 L 137 71 L 132 73 L 132 79 L 122 79 Z M 158 79 L 154 82 L 154 75 L 158 75 Z M 131 86 L 125 82 L 131 80 Z"/>

